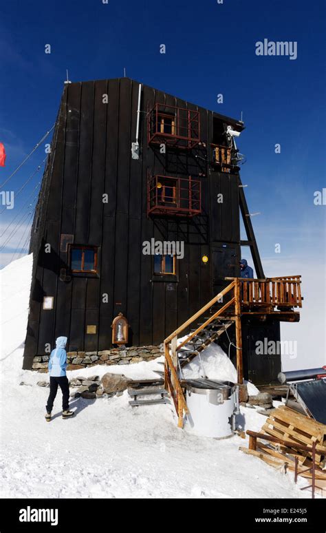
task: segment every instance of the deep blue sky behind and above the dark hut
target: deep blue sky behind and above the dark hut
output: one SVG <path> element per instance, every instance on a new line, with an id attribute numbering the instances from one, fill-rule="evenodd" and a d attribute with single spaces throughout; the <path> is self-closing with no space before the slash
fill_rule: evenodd
<path id="1" fill-rule="evenodd" d="M 240 118 L 243 112 L 246 130 L 238 145 L 247 162 L 241 176 L 248 184 L 250 211 L 261 213 L 252 220 L 265 273 L 303 273 L 307 306 L 301 331 L 307 337 L 310 310 L 319 317 L 313 333 L 320 337 L 326 206 L 314 205 L 314 192 L 326 187 L 324 33 L 323 0 L 3 3 L 0 142 L 7 161 L 0 167 L 0 182 L 53 125 L 66 68 L 72 81 L 81 81 L 120 77 L 125 67 L 133 79 L 221 114 Z M 296 41 L 297 59 L 257 56 L 255 43 L 263 39 Z M 45 54 L 46 44 L 51 54 Z M 161 44 L 166 54 L 160 54 Z M 217 94 L 224 95 L 223 104 L 217 103 Z M 281 154 L 274 152 L 276 143 Z M 6 190 L 17 191 L 43 158 L 41 148 Z M 30 221 L 29 204 L 36 201 L 40 179 L 38 172 L 17 196 L 14 209 L 1 214 L 0 233 L 14 217 L 16 224 L 25 216 L 0 251 L 2 265 L 12 258 L 19 239 L 28 238 L 24 224 Z M 5 236 L 10 232 L 2 242 Z M 274 253 L 276 243 L 281 244 L 279 254 Z M 320 346 L 315 346 L 318 357 L 325 353 Z"/>

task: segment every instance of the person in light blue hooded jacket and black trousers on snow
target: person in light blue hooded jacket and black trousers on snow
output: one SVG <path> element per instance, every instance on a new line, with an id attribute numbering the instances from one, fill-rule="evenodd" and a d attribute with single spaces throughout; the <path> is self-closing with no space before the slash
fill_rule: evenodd
<path id="1" fill-rule="evenodd" d="M 45 415 L 47 421 L 51 420 L 53 402 L 58 386 L 60 386 L 63 393 L 63 418 L 69 418 L 74 415 L 73 411 L 69 411 L 69 381 L 65 370 L 67 366 L 66 344 L 67 337 L 58 337 L 56 339 L 56 348 L 52 350 L 49 359 L 50 395 L 47 399 Z"/>

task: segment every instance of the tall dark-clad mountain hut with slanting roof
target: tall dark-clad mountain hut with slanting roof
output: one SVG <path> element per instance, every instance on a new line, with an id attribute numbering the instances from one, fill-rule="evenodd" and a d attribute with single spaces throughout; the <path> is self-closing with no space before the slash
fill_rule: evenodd
<path id="1" fill-rule="evenodd" d="M 263 278 L 234 142 L 242 129 L 128 78 L 65 85 L 32 227 L 24 368 L 59 335 L 69 351 L 109 348 L 118 313 L 130 345 L 160 344 L 239 275 L 241 244 Z M 182 249 L 143 253 L 153 242 Z M 256 382 L 280 369 L 279 356 L 254 360 L 265 336 L 279 339 L 279 323 L 243 323 L 245 377 Z"/>

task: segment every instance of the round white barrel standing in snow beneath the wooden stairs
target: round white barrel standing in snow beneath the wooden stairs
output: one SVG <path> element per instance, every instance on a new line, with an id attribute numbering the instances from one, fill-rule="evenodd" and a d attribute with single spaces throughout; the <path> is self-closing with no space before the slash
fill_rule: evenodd
<path id="1" fill-rule="evenodd" d="M 185 429 L 202 437 L 231 437 L 235 412 L 234 384 L 224 382 L 220 388 L 207 388 L 193 382 L 187 384 L 186 389 L 189 414 L 186 416 Z"/>

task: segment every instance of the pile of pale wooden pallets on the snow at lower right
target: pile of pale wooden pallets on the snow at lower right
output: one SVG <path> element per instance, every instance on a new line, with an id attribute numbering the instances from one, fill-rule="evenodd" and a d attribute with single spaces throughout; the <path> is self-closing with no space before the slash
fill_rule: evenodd
<path id="1" fill-rule="evenodd" d="M 324 468 L 326 458 L 326 426 L 324 424 L 320 424 L 289 407 L 281 406 L 268 417 L 261 433 L 303 446 L 312 446 L 313 443 L 316 443 L 316 464 Z M 301 464 L 306 464 L 307 459 L 312 457 L 311 452 L 298 452 L 295 448 L 281 444 L 269 446 L 265 452 L 296 455 Z"/>

